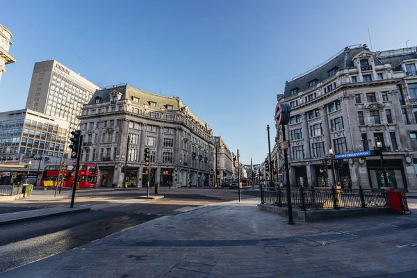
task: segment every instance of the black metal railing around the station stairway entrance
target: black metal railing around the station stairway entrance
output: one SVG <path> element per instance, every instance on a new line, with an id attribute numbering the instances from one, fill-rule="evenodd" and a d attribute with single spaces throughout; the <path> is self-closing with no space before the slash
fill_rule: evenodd
<path id="1" fill-rule="evenodd" d="M 287 206 L 286 188 L 261 188 L 261 203 Z M 388 199 L 381 189 L 291 188 L 293 208 L 367 208 L 386 206 Z"/>

